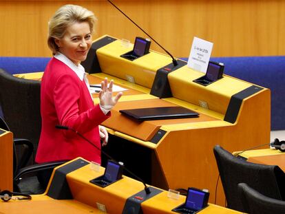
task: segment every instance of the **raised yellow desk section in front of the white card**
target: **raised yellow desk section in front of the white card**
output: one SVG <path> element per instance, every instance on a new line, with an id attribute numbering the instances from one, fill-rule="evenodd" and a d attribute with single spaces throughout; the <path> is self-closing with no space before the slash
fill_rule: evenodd
<path id="1" fill-rule="evenodd" d="M 204 101 L 209 109 L 221 114 L 226 113 L 231 96 L 252 85 L 226 75 L 210 85 L 200 85 L 193 80 L 204 76 L 204 73 L 187 66 L 171 72 L 168 76 L 173 97 L 195 105 L 200 105 L 199 101 Z"/>

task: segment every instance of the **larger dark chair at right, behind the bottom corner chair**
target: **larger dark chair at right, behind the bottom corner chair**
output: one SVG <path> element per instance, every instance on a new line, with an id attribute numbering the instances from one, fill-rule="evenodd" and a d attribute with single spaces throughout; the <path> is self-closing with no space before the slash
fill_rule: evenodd
<path id="1" fill-rule="evenodd" d="M 237 184 L 246 183 L 260 193 L 284 200 L 285 174 L 277 166 L 254 164 L 233 156 L 219 145 L 213 149 L 218 165 L 227 207 L 237 211 L 247 212 L 237 197 Z"/>

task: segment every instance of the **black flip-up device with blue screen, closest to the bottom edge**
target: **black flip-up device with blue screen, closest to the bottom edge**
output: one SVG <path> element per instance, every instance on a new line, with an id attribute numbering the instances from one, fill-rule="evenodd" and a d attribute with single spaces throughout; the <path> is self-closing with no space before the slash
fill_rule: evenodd
<path id="1" fill-rule="evenodd" d="M 198 213 L 208 206 L 209 192 L 190 187 L 184 204 L 174 208 L 176 213 Z"/>

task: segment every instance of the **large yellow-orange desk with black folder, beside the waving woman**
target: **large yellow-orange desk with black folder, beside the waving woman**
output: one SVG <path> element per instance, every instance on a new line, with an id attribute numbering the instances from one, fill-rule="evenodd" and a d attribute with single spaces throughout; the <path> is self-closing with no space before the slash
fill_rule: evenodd
<path id="1" fill-rule="evenodd" d="M 102 36 L 92 44 L 84 66 L 90 83 L 107 77 L 128 89 L 112 109 L 112 117 L 103 122 L 109 132 L 103 149 L 145 182 L 161 189 L 195 186 L 214 193 L 215 145 L 233 152 L 269 142 L 269 89 L 226 75 L 211 85 L 199 85 L 193 80 L 204 74 L 186 62 L 173 67 L 169 56 L 151 50 L 134 61 L 120 57 L 131 50 L 132 45 L 125 47 L 112 36 Z M 166 78 L 159 77 L 165 69 Z M 25 74 L 25 78 L 41 76 Z M 170 89 L 171 95 L 155 96 L 153 91 L 160 89 Z M 98 103 L 96 94 L 93 98 Z M 197 111 L 200 117 L 138 122 L 119 113 L 127 108 L 176 105 Z M 222 188 L 218 189 L 218 204 L 224 204 Z"/>

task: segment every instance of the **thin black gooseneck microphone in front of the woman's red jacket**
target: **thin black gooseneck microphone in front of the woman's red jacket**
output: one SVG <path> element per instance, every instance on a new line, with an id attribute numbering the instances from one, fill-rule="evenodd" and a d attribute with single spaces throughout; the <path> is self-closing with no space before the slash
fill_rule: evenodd
<path id="1" fill-rule="evenodd" d="M 109 158 L 110 160 L 114 160 L 116 161 L 114 158 L 112 158 L 111 156 L 109 156 L 105 151 L 103 151 L 102 149 L 100 149 L 99 147 L 97 147 L 96 145 L 94 145 L 90 140 L 88 140 L 87 138 L 85 138 L 85 136 L 83 136 L 81 133 L 79 133 L 78 131 L 76 131 L 75 129 L 72 129 L 71 127 L 67 127 L 67 126 L 62 126 L 62 125 L 56 125 L 55 126 L 56 129 L 63 129 L 63 130 L 70 130 L 73 131 L 74 133 L 76 133 L 78 136 L 80 136 L 81 138 L 83 138 L 84 140 L 86 140 L 90 145 L 92 145 L 93 147 L 95 147 L 96 149 L 98 149 L 98 151 L 101 151 L 105 156 L 107 156 L 107 158 Z M 117 162 L 117 161 L 116 161 Z M 118 162 L 117 162 L 118 163 Z M 145 184 L 145 182 L 139 178 L 137 175 L 135 175 L 134 173 L 132 173 L 131 171 L 129 171 L 129 169 L 127 169 L 126 167 L 124 167 L 125 171 L 127 171 L 128 173 L 130 173 L 131 175 L 133 175 L 137 180 L 139 180 L 140 182 L 142 182 L 142 184 L 145 186 L 145 193 L 147 193 L 147 195 L 149 195 L 151 193 L 149 187 L 147 186 L 147 184 Z"/>

